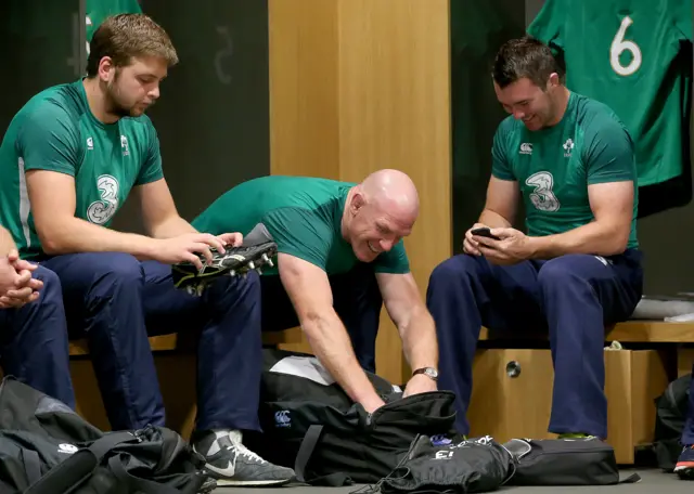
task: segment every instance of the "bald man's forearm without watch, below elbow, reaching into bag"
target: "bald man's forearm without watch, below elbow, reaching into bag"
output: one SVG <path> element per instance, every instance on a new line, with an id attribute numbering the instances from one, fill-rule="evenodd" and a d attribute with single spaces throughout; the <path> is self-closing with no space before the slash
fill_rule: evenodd
<path id="1" fill-rule="evenodd" d="M 349 398 L 361 404 L 378 398 L 355 356 L 345 326 L 332 308 L 326 315 L 303 322 L 301 326 L 316 356 Z"/>

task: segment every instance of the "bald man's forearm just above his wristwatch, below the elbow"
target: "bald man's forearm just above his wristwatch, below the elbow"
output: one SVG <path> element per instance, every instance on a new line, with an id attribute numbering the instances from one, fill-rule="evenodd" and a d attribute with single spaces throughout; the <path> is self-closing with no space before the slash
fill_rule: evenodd
<path id="1" fill-rule="evenodd" d="M 402 351 L 412 370 L 421 367 L 438 367 L 438 343 L 434 318 L 422 307 L 398 328 L 402 339 Z"/>

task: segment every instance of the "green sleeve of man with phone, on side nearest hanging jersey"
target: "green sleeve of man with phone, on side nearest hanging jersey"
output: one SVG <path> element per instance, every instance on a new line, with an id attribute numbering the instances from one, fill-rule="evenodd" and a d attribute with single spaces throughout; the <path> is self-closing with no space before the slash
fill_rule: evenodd
<path id="1" fill-rule="evenodd" d="M 633 143 L 627 130 L 609 120 L 593 123 L 586 132 L 588 184 L 637 180 Z"/>

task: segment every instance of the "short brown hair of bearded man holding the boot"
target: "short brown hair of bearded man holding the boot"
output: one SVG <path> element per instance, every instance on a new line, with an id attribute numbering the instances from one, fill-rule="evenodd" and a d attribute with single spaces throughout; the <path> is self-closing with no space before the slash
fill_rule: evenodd
<path id="1" fill-rule="evenodd" d="M 164 28 L 144 14 L 118 14 L 97 28 L 89 43 L 87 76 L 94 77 L 99 62 L 110 56 L 117 67 L 129 65 L 133 57 L 157 56 L 169 67 L 178 63 L 176 49 Z"/>

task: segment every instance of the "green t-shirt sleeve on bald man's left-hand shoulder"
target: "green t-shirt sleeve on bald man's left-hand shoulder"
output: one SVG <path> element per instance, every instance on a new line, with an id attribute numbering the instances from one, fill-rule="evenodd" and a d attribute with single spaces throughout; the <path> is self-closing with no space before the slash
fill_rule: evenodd
<path id="1" fill-rule="evenodd" d="M 272 235 L 278 252 L 326 269 L 335 232 L 316 212 L 305 208 L 278 208 L 264 214 L 260 222 Z"/>

